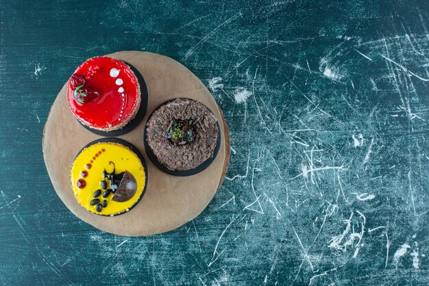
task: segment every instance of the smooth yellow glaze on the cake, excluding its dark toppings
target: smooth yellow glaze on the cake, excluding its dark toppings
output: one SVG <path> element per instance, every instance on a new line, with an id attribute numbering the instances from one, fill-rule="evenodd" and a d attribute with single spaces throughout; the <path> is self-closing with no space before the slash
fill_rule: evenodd
<path id="1" fill-rule="evenodd" d="M 94 157 L 95 159 L 93 159 Z M 110 161 L 114 163 L 116 168 L 115 174 L 127 170 L 134 175 L 137 182 L 137 191 L 130 200 L 123 203 L 112 200 L 112 196 L 114 195 L 112 192 L 110 192 L 107 198 L 103 198 L 103 196 L 100 195 L 98 197 L 100 203 L 103 202 L 103 200 L 107 200 L 108 205 L 98 212 L 95 210 L 95 205 L 90 205 L 90 201 L 94 199 L 93 194 L 96 190 L 101 190 L 101 193 L 104 192 L 100 182 L 103 180 L 104 170 L 107 172 L 112 172 L 113 170 L 113 165 L 109 164 Z M 91 165 L 89 169 L 86 168 L 88 164 Z M 83 177 L 82 171 L 88 172 L 88 175 Z M 140 159 L 138 159 L 137 155 L 129 148 L 114 142 L 100 142 L 85 148 L 79 153 L 71 167 L 70 177 L 73 193 L 82 207 L 92 213 L 113 216 L 130 210 L 130 208 L 138 202 L 145 188 L 146 174 Z M 79 188 L 77 186 L 77 181 L 79 179 L 83 179 L 86 182 L 85 187 Z M 106 183 L 108 188 L 110 188 L 107 179 Z"/>

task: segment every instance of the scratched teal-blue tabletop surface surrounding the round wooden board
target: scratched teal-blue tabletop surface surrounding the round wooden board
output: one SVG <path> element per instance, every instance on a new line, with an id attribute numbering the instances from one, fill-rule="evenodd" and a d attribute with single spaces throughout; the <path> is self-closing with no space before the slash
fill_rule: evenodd
<path id="1" fill-rule="evenodd" d="M 427 285 L 428 1 L 0 0 L 0 285 Z M 227 179 L 170 233 L 75 218 L 42 159 L 76 66 L 172 57 L 223 109 Z"/>

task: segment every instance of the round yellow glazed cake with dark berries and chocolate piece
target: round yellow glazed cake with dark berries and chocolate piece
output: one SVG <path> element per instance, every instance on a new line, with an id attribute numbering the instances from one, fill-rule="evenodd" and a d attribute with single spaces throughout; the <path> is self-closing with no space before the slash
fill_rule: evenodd
<path id="1" fill-rule="evenodd" d="M 97 142 L 77 155 L 70 177 L 73 193 L 82 207 L 114 216 L 138 203 L 147 174 L 138 155 L 127 146 Z"/>

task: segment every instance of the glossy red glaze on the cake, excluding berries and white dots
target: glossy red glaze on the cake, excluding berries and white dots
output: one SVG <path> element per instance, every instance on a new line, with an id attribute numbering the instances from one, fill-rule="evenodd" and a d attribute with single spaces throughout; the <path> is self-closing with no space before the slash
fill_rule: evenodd
<path id="1" fill-rule="evenodd" d="M 95 68 L 97 66 L 98 69 Z M 117 77 L 110 76 L 112 68 L 119 70 Z M 76 87 L 71 80 L 67 83 L 67 101 L 71 112 L 89 127 L 103 129 L 120 125 L 136 108 L 138 81 L 125 63 L 111 57 L 93 57 L 79 66 L 74 74 L 84 75 L 84 87 L 95 88 L 99 92 L 95 99 L 79 103 L 74 96 Z M 123 83 L 118 85 L 117 79 Z M 124 91 L 119 92 L 119 88 Z"/>

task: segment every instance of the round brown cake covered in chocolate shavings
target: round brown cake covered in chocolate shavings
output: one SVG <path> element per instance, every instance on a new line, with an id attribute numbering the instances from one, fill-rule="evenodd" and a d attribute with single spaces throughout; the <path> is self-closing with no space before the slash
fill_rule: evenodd
<path id="1" fill-rule="evenodd" d="M 161 164 L 169 170 L 191 170 L 214 155 L 219 127 L 206 105 L 174 99 L 151 114 L 146 135 Z"/>

